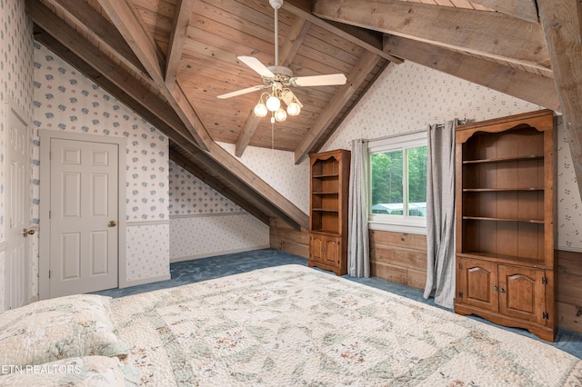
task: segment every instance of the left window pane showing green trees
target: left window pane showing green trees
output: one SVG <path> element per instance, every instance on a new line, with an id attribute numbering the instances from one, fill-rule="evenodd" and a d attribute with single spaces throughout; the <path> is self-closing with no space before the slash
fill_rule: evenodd
<path id="1" fill-rule="evenodd" d="M 372 154 L 372 213 L 403 214 L 402 151 Z"/>

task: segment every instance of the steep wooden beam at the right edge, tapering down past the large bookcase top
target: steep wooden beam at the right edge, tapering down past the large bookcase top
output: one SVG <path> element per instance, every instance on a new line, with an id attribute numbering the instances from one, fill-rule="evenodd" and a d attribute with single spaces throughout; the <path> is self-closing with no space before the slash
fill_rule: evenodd
<path id="1" fill-rule="evenodd" d="M 562 104 L 578 192 L 582 196 L 582 16 L 578 1 L 537 0 Z"/>

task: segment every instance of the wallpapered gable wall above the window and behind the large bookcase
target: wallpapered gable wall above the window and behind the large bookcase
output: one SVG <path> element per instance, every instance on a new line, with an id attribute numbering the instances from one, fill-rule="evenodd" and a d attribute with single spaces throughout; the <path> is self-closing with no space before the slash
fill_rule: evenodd
<path id="1" fill-rule="evenodd" d="M 354 138 L 404 134 L 453 118 L 483 121 L 541 109 L 507 94 L 406 61 L 389 65 L 322 151 Z M 582 202 L 563 127 L 557 130 L 557 246 L 582 252 Z"/>

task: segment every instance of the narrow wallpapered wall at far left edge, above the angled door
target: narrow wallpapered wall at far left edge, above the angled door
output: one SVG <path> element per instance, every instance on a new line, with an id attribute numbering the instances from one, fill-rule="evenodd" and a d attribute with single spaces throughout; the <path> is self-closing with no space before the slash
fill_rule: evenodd
<path id="1" fill-rule="evenodd" d="M 0 0 L 0 243 L 5 243 L 5 104 L 33 113 L 33 24 L 25 2 Z M 4 245 L 4 244 L 3 244 Z M 5 308 L 5 247 L 0 249 L 0 312 Z"/>

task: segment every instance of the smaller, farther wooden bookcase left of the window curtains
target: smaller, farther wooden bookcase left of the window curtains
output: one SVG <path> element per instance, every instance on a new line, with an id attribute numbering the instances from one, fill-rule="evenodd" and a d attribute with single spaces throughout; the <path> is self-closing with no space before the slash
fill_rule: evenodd
<path id="1" fill-rule="evenodd" d="M 351 154 L 311 154 L 309 267 L 347 273 L 347 195 Z"/>

